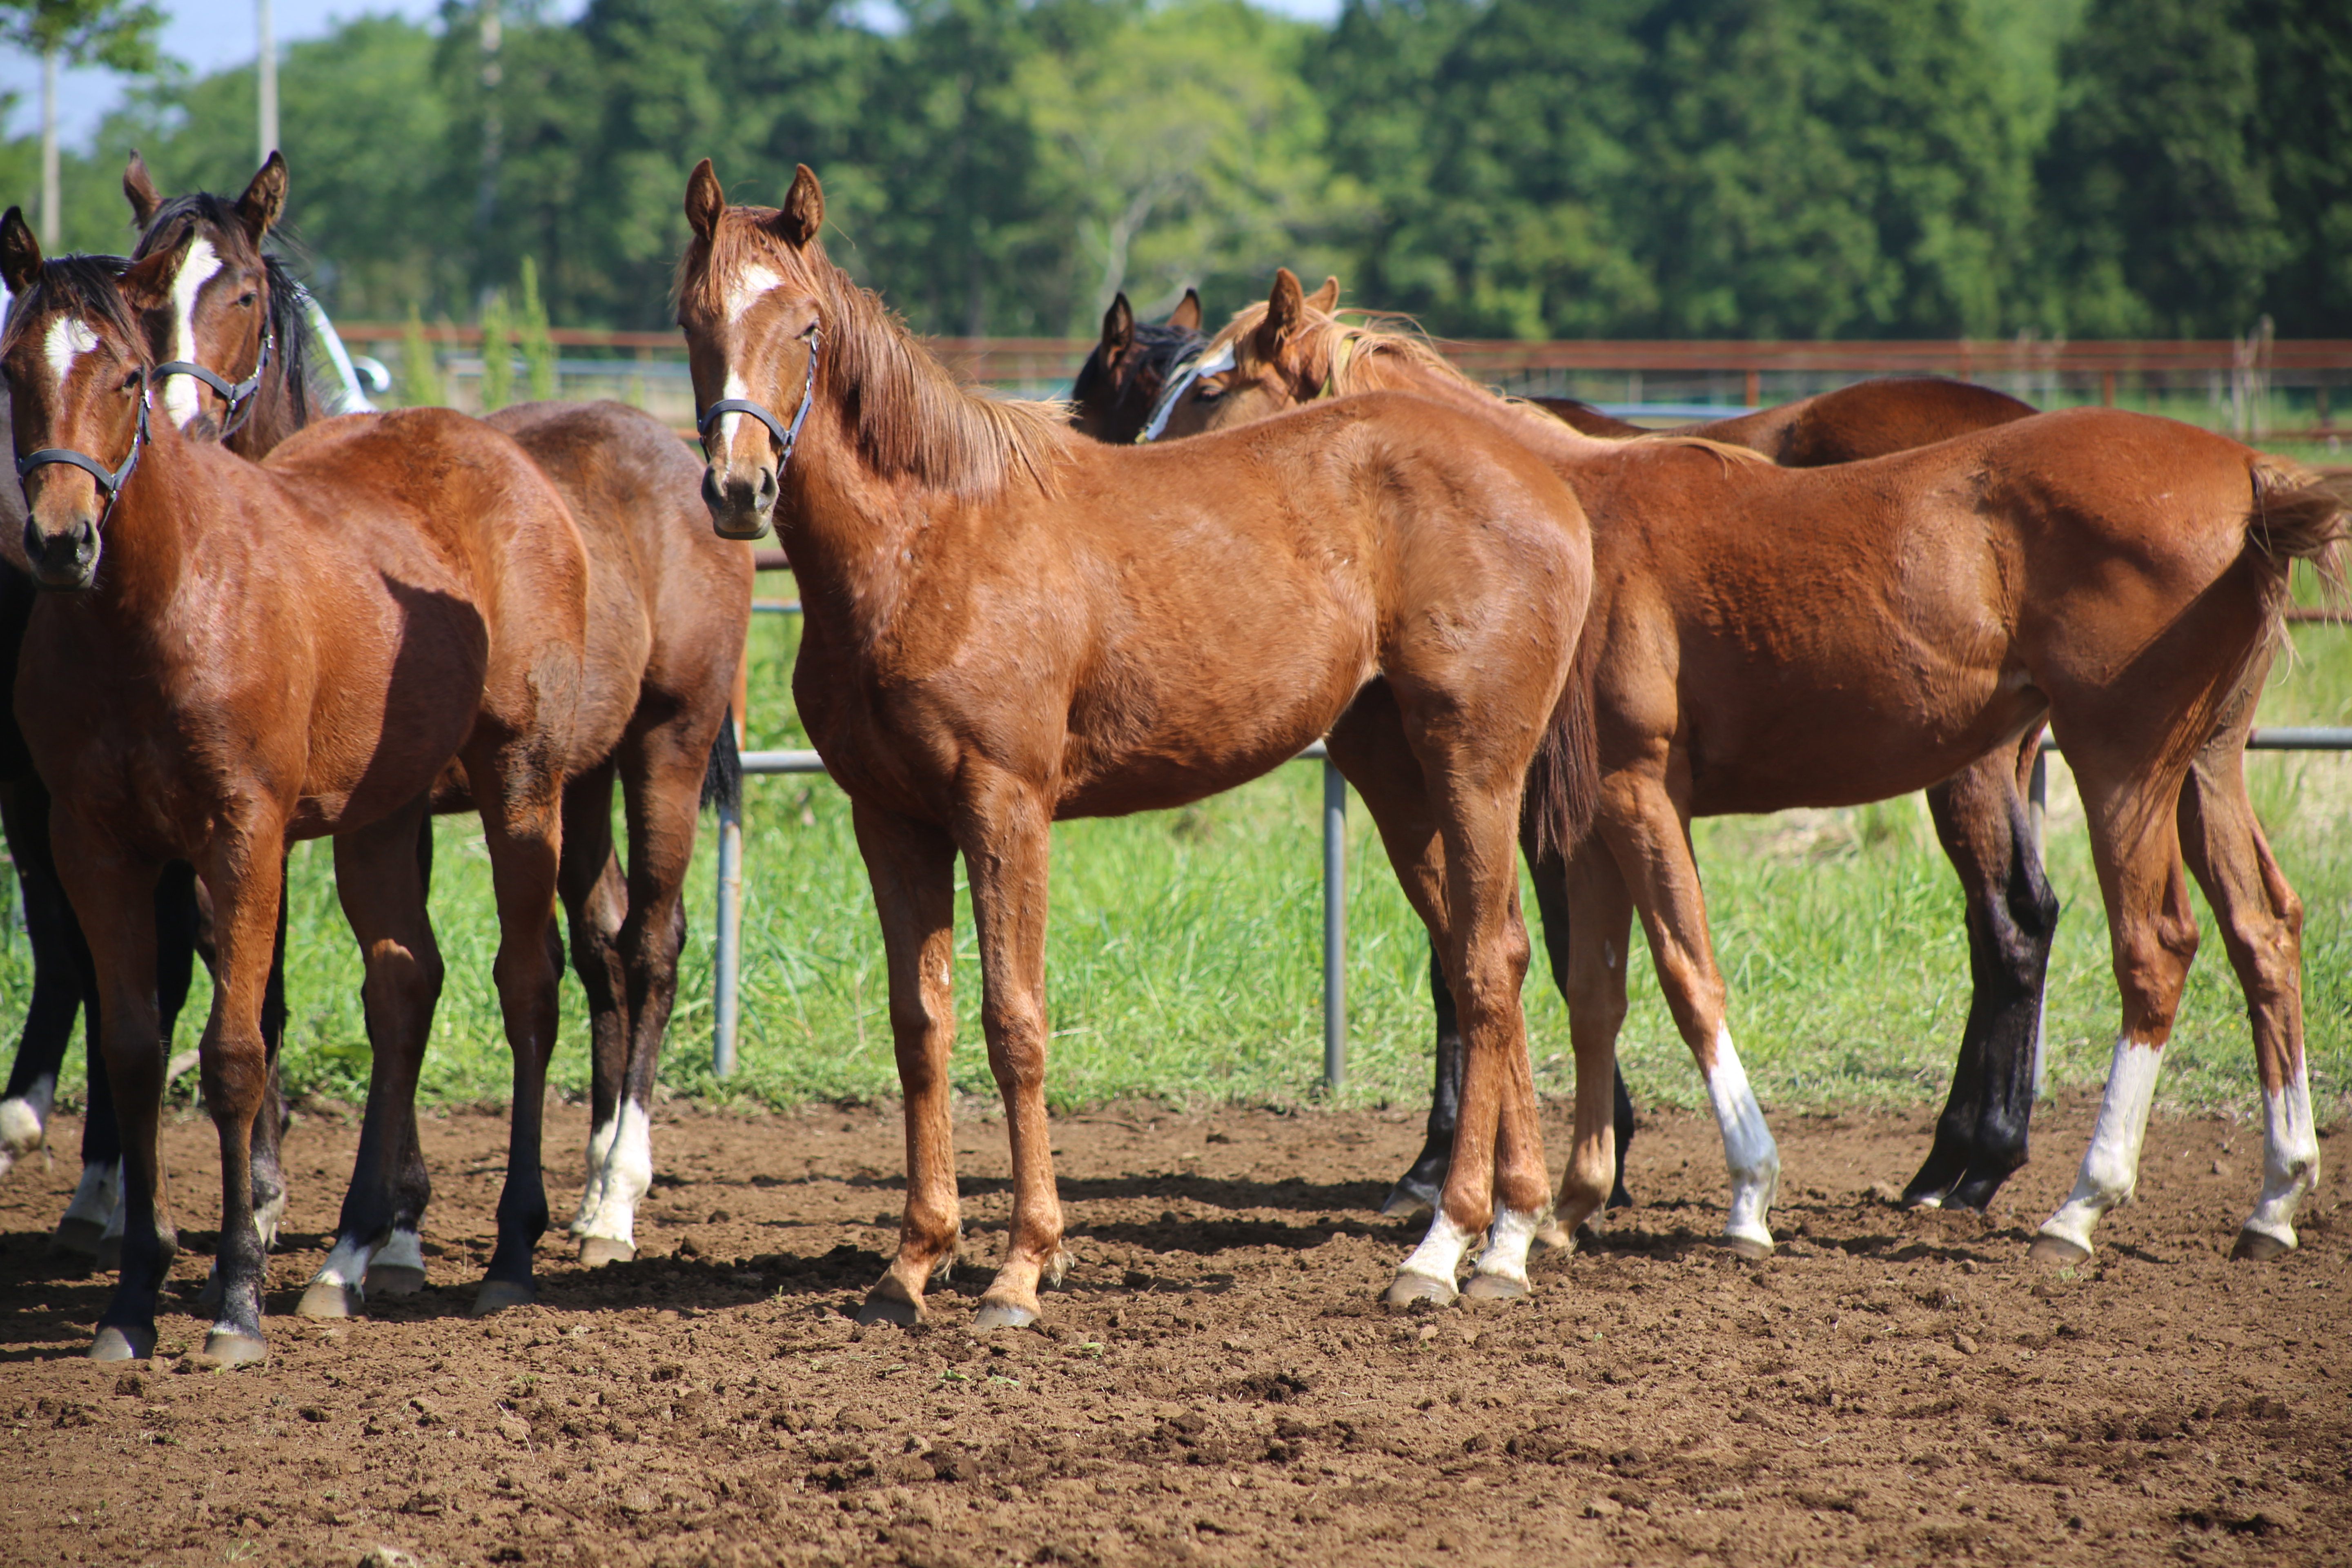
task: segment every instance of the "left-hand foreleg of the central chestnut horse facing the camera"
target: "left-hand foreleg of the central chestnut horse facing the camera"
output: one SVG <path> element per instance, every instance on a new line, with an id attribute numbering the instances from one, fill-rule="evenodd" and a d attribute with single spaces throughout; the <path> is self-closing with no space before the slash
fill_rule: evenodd
<path id="1" fill-rule="evenodd" d="M 927 823 L 851 802 L 858 856 L 875 889 L 889 964 L 889 1030 L 906 1100 L 906 1215 L 898 1255 L 866 1295 L 861 1324 L 915 1324 L 931 1279 L 955 1267 L 955 839 Z"/>

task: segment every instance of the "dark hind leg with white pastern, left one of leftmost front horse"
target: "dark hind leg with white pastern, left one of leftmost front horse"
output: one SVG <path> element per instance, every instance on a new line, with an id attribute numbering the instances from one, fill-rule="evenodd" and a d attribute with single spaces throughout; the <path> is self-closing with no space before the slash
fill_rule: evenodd
<path id="1" fill-rule="evenodd" d="M 430 832 L 423 797 L 334 839 L 336 896 L 367 971 L 360 983 L 369 1046 L 367 1110 L 334 1246 L 301 1295 L 301 1316 L 365 1309 L 369 1274 L 383 1269 L 388 1239 L 395 1229 L 414 1234 L 433 1197 L 409 1131 L 416 1074 L 442 987 L 442 957 L 426 919 L 419 832 Z"/>

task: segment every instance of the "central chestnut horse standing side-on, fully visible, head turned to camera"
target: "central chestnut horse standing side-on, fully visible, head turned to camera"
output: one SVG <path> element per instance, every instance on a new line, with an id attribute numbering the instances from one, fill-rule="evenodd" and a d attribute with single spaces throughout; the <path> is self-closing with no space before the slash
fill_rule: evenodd
<path id="1" fill-rule="evenodd" d="M 948 1051 L 955 856 L 981 947 L 1014 1215 L 976 1331 L 1058 1281 L 1044 1110 L 1051 823 L 1178 806 L 1329 736 L 1463 1009 L 1461 1140 L 1392 1300 L 1526 1291 L 1548 1201 L 1512 835 L 1573 832 L 1590 741 L 1555 724 L 1588 592 L 1583 510 L 1489 421 L 1371 397 L 1209 444 L 1103 447 L 960 383 L 826 259 L 823 190 L 729 207 L 687 183 L 677 275 L 713 527 L 774 522 L 800 574 L 793 696 L 849 792 L 906 1093 L 898 1251 L 866 1321 L 924 1316 L 955 1262 Z M 1562 736 L 1571 736 L 1562 741 Z"/>

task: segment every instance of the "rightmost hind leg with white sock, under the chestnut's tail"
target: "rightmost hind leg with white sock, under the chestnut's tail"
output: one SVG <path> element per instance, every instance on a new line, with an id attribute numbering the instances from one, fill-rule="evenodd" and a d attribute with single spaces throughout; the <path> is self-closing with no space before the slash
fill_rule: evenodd
<path id="1" fill-rule="evenodd" d="M 2230 1255 L 2263 1262 L 2296 1246 L 2296 1208 L 2319 1185 L 2319 1138 L 2303 1056 L 2303 900 L 2246 799 L 2241 745 L 2209 745 L 2197 757 L 2180 790 L 2180 846 L 2213 905 L 2253 1025 L 2263 1192 Z"/>

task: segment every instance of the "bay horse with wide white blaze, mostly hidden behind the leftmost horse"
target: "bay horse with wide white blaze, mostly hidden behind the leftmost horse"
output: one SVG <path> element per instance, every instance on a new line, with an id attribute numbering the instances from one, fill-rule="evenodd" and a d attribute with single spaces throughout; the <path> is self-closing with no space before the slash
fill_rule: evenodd
<path id="1" fill-rule="evenodd" d="M 275 216 L 285 197 L 285 162 L 275 153 L 256 183 L 263 179 L 275 179 L 268 205 Z M 268 223 L 240 221 L 245 202 L 230 207 L 209 193 L 165 200 L 136 158 L 125 193 L 143 226 L 134 259 L 169 244 L 176 226 L 193 226 L 186 261 L 165 277 L 169 306 L 148 320 L 151 339 L 172 343 L 176 360 L 212 367 L 191 378 L 174 416 L 191 428 L 230 423 L 223 381 L 259 383 L 263 400 L 278 393 L 252 301 L 259 296 L 259 315 L 273 317 L 280 301 L 299 301 L 299 284 L 261 249 Z M 588 1178 L 572 1234 L 581 1262 L 602 1265 L 635 1255 L 635 1208 L 654 1178 L 649 1112 L 677 994 L 682 886 L 706 776 L 717 790 L 739 788 L 727 708 L 750 618 L 750 550 L 710 531 L 699 501 L 703 465 L 642 409 L 532 402 L 487 423 L 539 463 L 588 548 L 588 642 L 574 750 L 564 762 L 557 889 L 572 966 L 588 997 L 593 1051 Z M 616 780 L 628 827 L 626 875 L 612 835 Z M 470 809 L 463 778 L 435 792 L 435 811 Z M 430 856 L 430 835 L 419 853 Z M 402 1206 L 388 1239 L 360 1234 L 367 1215 L 346 1211 L 334 1253 L 303 1295 L 308 1316 L 358 1312 L 369 1286 L 390 1293 L 423 1286 L 416 1220 L 430 1185 L 416 1150 L 414 1103 L 383 1114 L 402 1128 Z"/>

